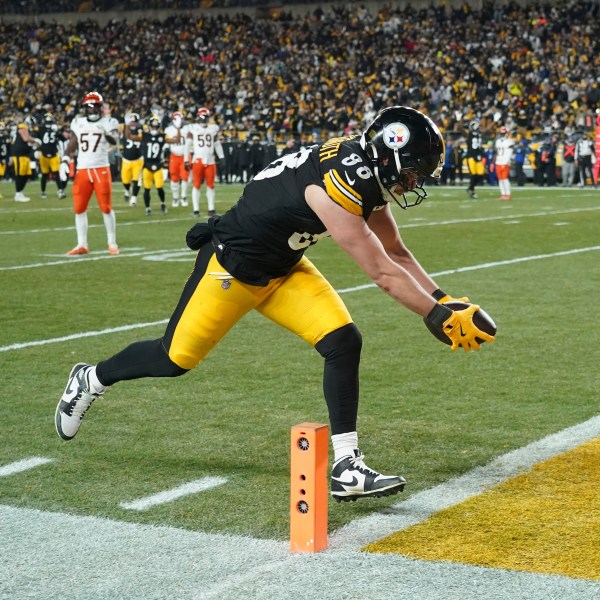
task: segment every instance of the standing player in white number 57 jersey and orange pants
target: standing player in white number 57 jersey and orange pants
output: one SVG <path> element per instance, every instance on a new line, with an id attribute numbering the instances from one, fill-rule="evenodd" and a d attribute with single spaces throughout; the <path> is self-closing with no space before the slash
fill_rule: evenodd
<path id="1" fill-rule="evenodd" d="M 69 256 L 87 254 L 87 208 L 96 193 L 102 211 L 110 254 L 119 254 L 117 221 L 112 209 L 112 177 L 108 152 L 119 139 L 119 122 L 110 116 L 110 107 L 98 92 L 87 93 L 82 102 L 85 114 L 71 121 L 71 138 L 61 161 L 61 179 L 66 181 L 71 159 L 77 154 L 77 172 L 73 181 L 73 204 L 77 246 Z"/>

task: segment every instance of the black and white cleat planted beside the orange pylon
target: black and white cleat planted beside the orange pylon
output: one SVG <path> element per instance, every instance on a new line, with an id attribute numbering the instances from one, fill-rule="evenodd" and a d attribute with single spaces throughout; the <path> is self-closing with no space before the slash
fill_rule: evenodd
<path id="1" fill-rule="evenodd" d="M 331 469 L 331 495 L 336 502 L 354 502 L 358 498 L 381 498 L 404 490 L 406 480 L 399 475 L 382 475 L 365 465 L 360 450 L 343 456 Z"/>

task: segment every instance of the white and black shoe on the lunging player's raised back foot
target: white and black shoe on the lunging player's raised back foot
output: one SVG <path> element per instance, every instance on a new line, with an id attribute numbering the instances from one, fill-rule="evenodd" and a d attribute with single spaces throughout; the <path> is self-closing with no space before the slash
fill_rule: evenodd
<path id="1" fill-rule="evenodd" d="M 54 415 L 56 433 L 63 440 L 72 440 L 75 437 L 88 408 L 96 398 L 102 396 L 90 391 L 88 379 L 90 369 L 90 365 L 85 363 L 77 363 L 71 369 L 67 386 L 56 407 Z"/>

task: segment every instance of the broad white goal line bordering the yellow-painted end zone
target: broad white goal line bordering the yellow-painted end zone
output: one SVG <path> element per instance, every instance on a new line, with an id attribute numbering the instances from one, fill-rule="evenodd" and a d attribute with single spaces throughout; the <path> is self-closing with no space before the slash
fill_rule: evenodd
<path id="1" fill-rule="evenodd" d="M 600 437 L 600 415 L 541 440 L 503 454 L 469 473 L 450 479 L 390 507 L 391 514 L 373 514 L 352 521 L 330 536 L 335 548 L 357 548 L 428 519 L 431 515 L 478 496 L 534 465 Z"/>

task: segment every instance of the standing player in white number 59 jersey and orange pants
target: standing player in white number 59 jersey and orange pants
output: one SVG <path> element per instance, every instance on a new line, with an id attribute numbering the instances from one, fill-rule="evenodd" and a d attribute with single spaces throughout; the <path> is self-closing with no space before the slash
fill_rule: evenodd
<path id="1" fill-rule="evenodd" d="M 196 123 L 188 127 L 187 132 L 187 164 L 192 166 L 193 188 L 192 205 L 194 216 L 200 214 L 200 187 L 206 181 L 206 204 L 208 216 L 216 214 L 215 211 L 215 180 L 217 178 L 217 164 L 215 155 L 219 160 L 224 158 L 223 148 L 219 142 L 219 126 L 210 123 L 208 108 L 199 108 L 196 112 Z"/>

